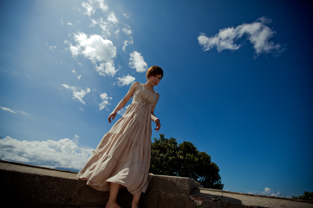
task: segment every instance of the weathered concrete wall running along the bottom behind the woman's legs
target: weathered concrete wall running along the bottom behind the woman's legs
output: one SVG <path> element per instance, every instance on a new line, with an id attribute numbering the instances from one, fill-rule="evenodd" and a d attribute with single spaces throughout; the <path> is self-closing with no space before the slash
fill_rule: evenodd
<path id="1" fill-rule="evenodd" d="M 86 186 L 77 173 L 0 161 L 2 201 L 15 207 L 95 208 L 104 207 L 109 192 Z M 121 207 L 131 206 L 132 196 L 124 188 L 118 196 Z M 142 208 L 227 208 L 227 207 L 312 207 L 312 202 L 283 197 L 260 196 L 200 188 L 194 180 L 172 176 L 153 176 Z"/>

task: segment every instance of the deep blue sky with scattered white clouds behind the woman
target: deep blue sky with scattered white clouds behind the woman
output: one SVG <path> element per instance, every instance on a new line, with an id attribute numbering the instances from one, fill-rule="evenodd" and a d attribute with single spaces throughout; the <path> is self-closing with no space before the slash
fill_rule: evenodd
<path id="1" fill-rule="evenodd" d="M 144 83 L 157 65 L 161 129 L 152 140 L 164 133 L 206 151 L 224 190 L 312 191 L 310 8 L 304 1 L 1 1 L 0 157 L 80 169 L 131 83 Z"/>

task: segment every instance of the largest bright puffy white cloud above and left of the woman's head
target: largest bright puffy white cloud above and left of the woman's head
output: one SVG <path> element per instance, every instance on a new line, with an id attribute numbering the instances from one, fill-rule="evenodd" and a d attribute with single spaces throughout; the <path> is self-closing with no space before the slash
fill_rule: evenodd
<path id="1" fill-rule="evenodd" d="M 85 33 L 74 34 L 74 40 L 77 42 L 76 46 L 69 44 L 74 58 L 79 54 L 84 55 L 95 65 L 95 70 L 100 75 L 115 75 L 116 47 L 110 40 L 104 40 L 100 35 L 87 37 Z"/>

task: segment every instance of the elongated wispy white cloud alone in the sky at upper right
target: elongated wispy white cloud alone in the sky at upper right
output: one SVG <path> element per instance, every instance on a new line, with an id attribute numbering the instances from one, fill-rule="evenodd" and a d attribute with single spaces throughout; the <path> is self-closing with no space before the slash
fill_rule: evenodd
<path id="1" fill-rule="evenodd" d="M 271 21 L 271 19 L 261 17 L 250 24 L 244 23 L 236 28 L 223 28 L 219 30 L 218 34 L 212 37 L 207 37 L 204 33 L 201 33 L 198 37 L 198 41 L 203 51 L 211 50 L 214 47 L 216 47 L 218 52 L 226 49 L 238 50 L 242 44 L 236 44 L 235 42 L 246 35 L 247 39 L 253 45 L 255 57 L 259 56 L 261 53 L 280 55 L 285 48 L 282 48 L 280 44 L 275 44 L 274 42 L 269 41 L 269 38 L 273 37 L 276 33 L 266 25 Z"/>

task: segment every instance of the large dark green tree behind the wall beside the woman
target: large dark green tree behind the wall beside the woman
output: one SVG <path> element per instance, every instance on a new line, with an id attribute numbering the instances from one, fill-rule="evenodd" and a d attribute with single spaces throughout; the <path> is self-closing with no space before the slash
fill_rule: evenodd
<path id="1" fill-rule="evenodd" d="M 211 156 L 199 152 L 189 141 L 177 144 L 174 138 L 154 138 L 151 143 L 150 172 L 156 175 L 192 178 L 204 188 L 223 189 L 219 168 Z"/>

